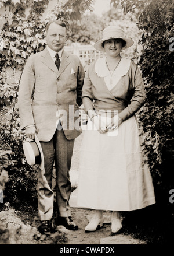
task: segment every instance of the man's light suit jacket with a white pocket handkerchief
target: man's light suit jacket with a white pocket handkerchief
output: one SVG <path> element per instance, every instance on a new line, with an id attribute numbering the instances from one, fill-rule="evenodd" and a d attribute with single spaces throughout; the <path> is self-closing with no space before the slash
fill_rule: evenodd
<path id="1" fill-rule="evenodd" d="M 46 48 L 31 55 L 19 87 L 21 129 L 35 124 L 39 141 L 50 141 L 60 116 L 67 139 L 81 134 L 78 110 L 84 76 L 84 68 L 75 55 L 63 51 L 59 71 Z"/>

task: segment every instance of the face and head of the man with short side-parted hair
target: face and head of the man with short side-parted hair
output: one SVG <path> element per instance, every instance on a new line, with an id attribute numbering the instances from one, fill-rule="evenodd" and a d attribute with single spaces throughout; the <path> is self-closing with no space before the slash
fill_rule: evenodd
<path id="1" fill-rule="evenodd" d="M 46 33 L 46 43 L 53 51 L 59 52 L 66 43 L 66 28 L 56 23 L 51 23 Z"/>

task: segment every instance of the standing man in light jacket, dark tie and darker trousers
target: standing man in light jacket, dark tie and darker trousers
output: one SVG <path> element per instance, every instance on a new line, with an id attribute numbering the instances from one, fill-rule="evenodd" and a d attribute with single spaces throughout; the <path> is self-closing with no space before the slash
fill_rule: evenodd
<path id="1" fill-rule="evenodd" d="M 66 40 L 66 24 L 60 20 L 49 22 L 46 26 L 47 46 L 44 51 L 28 58 L 19 87 L 21 129 L 25 129 L 26 136 L 31 139 L 37 134 L 44 154 L 45 168 L 38 169 L 41 233 L 49 232 L 52 225 L 54 161 L 59 225 L 70 230 L 78 229 L 71 219 L 69 171 L 74 139 L 81 134 L 77 112 L 82 104 L 85 73 L 79 58 L 64 52 Z"/>

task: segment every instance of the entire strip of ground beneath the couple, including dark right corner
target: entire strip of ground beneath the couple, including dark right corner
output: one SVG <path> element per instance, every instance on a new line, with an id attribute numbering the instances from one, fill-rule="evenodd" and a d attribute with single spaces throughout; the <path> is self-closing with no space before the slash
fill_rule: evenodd
<path id="1" fill-rule="evenodd" d="M 1 206 L 1 205 L 0 205 Z M 118 234 L 111 233 L 111 212 L 104 211 L 104 225 L 96 232 L 85 233 L 92 218 L 90 209 L 71 208 L 78 224 L 77 231 L 55 225 L 55 232 L 38 232 L 37 205 L 3 205 L 0 208 L 0 244 L 173 244 L 174 214 L 158 205 L 122 213 L 123 227 Z M 54 215 L 53 221 L 56 218 Z"/>

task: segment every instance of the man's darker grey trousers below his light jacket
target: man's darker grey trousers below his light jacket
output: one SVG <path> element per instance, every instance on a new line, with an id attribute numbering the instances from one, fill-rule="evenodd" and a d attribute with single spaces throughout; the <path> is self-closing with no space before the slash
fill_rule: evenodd
<path id="1" fill-rule="evenodd" d="M 53 215 L 54 193 L 52 173 L 55 161 L 56 204 L 61 217 L 71 215 L 69 199 L 71 195 L 70 167 L 74 139 L 68 140 L 63 129 L 56 130 L 49 142 L 40 142 L 44 154 L 45 170 L 38 168 L 38 212 L 40 220 L 50 220 Z"/>

